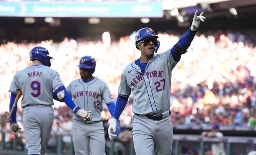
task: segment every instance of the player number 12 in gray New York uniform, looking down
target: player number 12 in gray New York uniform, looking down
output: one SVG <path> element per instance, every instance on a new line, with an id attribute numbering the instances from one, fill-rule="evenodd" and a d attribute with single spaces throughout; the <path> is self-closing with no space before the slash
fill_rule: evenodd
<path id="1" fill-rule="evenodd" d="M 72 81 L 67 91 L 74 102 L 91 111 L 91 121 L 84 121 L 76 115 L 73 116 L 72 140 L 74 143 L 75 155 L 104 155 L 105 135 L 103 119 L 101 117 L 102 102 L 105 101 L 109 112 L 114 112 L 114 99 L 109 91 L 107 83 L 94 77 L 96 62 L 91 56 L 84 56 L 78 65 L 80 79 Z M 119 135 L 120 122 L 117 121 L 115 136 Z"/>

